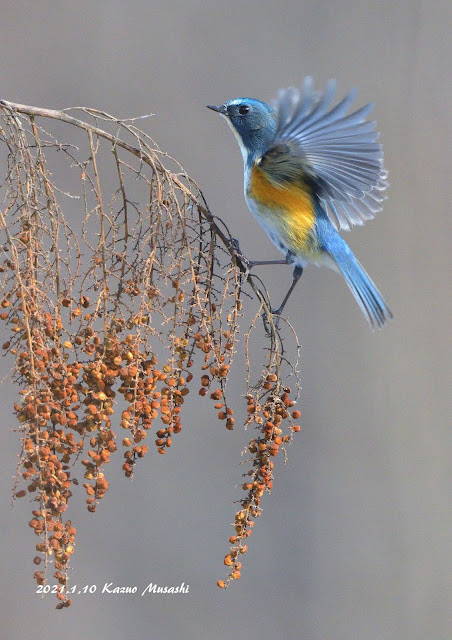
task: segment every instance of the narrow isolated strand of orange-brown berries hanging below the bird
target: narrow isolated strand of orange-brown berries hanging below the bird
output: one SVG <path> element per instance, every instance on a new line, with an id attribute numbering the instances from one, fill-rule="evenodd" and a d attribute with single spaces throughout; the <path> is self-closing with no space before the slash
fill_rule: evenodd
<path id="1" fill-rule="evenodd" d="M 252 533 L 254 518 L 260 517 L 262 497 L 273 487 L 272 458 L 278 455 L 281 448 L 292 441 L 294 433 L 300 431 L 299 425 L 292 424 L 292 419 L 300 418 L 301 413 L 290 408 L 295 402 L 290 399 L 290 389 L 281 388 L 278 376 L 270 373 L 262 384 L 264 393 L 247 394 L 247 425 L 255 425 L 260 435 L 252 438 L 248 444 L 248 452 L 252 455 L 249 462 L 251 469 L 244 474 L 247 478 L 242 485 L 246 496 L 240 500 L 240 509 L 235 514 L 235 534 L 229 538 L 231 549 L 224 558 L 224 564 L 230 569 L 228 579 L 218 580 L 222 589 L 227 588 L 231 580 L 238 580 L 241 575 L 241 557 L 248 550 L 245 541 Z M 288 423 L 284 425 L 284 422 Z M 286 426 L 287 433 L 283 433 Z"/>

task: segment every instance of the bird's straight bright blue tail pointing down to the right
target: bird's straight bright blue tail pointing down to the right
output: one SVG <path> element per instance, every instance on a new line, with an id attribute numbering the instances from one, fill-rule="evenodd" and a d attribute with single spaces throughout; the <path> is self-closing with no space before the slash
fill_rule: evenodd
<path id="1" fill-rule="evenodd" d="M 328 253 L 343 274 L 356 302 L 374 329 L 382 329 L 392 318 L 383 296 L 359 264 L 347 243 L 337 235 Z"/>

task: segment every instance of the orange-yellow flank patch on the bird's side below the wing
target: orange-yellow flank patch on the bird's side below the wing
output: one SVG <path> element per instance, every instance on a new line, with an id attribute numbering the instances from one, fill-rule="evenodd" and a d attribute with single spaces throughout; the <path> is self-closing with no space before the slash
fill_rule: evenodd
<path id="1" fill-rule="evenodd" d="M 263 225 L 288 249 L 295 253 L 314 250 L 311 231 L 315 211 L 311 195 L 301 181 L 295 185 L 275 185 L 256 164 L 251 171 L 248 197 L 258 205 Z"/>

